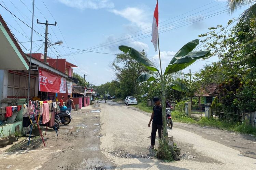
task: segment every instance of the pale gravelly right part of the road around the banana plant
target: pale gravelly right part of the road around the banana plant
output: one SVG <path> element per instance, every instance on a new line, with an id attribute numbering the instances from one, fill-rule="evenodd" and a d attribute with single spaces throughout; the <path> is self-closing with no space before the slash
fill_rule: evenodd
<path id="1" fill-rule="evenodd" d="M 255 169 L 256 138 L 220 129 L 175 123 L 169 130 L 181 161 L 163 163 L 149 150 L 150 114 L 115 102 L 101 104 L 100 149 L 120 169 Z"/>

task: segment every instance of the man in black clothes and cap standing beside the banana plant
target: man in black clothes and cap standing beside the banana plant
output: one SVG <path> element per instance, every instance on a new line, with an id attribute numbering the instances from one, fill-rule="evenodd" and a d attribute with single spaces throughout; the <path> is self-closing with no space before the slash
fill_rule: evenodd
<path id="1" fill-rule="evenodd" d="M 162 136 L 162 126 L 163 126 L 163 121 L 162 121 L 162 105 L 160 103 L 160 100 L 158 97 L 154 97 L 153 101 L 155 103 L 155 106 L 153 107 L 153 112 L 150 118 L 150 122 L 148 123 L 148 128 L 150 128 L 151 121 L 152 122 L 152 130 L 151 130 L 151 146 L 149 149 L 153 149 L 154 145 L 156 145 L 155 140 L 156 140 L 156 131 L 158 131 L 158 138 L 160 139 Z"/>

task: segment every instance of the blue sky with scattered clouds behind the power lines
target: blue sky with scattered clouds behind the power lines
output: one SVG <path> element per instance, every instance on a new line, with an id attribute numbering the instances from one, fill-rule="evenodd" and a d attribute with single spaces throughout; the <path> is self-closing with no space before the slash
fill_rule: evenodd
<path id="1" fill-rule="evenodd" d="M 0 4 L 31 26 L 32 0 L 0 0 Z M 44 36 L 44 26 L 37 24 L 36 20 L 45 22 L 47 19 L 49 23 L 56 20 L 58 27 L 49 26 L 48 37 L 52 43 L 62 40 L 62 46 L 65 46 L 55 46 L 57 52 L 53 46 L 50 47 L 48 56 L 60 55 L 79 66 L 74 71 L 88 74 L 86 80 L 90 83 L 99 85 L 115 79 L 109 66 L 115 55 L 95 52 L 116 54 L 120 52 L 119 45 L 144 49 L 159 65 L 158 56 L 155 56 L 158 52 L 155 52 L 150 36 L 155 0 L 35 0 L 35 5 L 34 30 Z M 187 42 L 206 33 L 209 27 L 217 24 L 226 26 L 229 19 L 238 17 L 246 7 L 229 15 L 223 11 L 227 9 L 225 0 L 159 0 L 159 33 L 166 31 L 159 34 L 161 55 L 174 55 Z M 2 6 L 0 14 L 19 42 L 30 40 L 31 30 L 24 23 Z M 33 33 L 32 52 L 44 52 L 41 35 Z M 24 52 L 29 53 L 29 43 L 20 44 Z M 95 52 L 68 49 L 67 46 Z M 163 69 L 171 58 L 162 56 Z M 199 61 L 184 72 L 188 73 L 189 69 L 196 72 L 205 63 L 216 60 L 212 57 L 208 62 Z"/>

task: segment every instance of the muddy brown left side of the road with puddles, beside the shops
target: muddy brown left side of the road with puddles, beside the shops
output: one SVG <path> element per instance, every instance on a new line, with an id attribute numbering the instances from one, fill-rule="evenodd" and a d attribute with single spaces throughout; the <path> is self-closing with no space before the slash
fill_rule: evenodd
<path id="1" fill-rule="evenodd" d="M 34 137 L 30 146 L 27 141 L 5 153 L 0 153 L 0 169 L 84 170 L 114 168 L 100 152 L 100 107 L 99 104 L 72 110 L 68 125 L 60 125 L 58 136 L 47 129 L 44 136 Z M 45 133 L 45 128 L 43 134 Z M 25 148 L 21 150 L 21 148 Z"/>

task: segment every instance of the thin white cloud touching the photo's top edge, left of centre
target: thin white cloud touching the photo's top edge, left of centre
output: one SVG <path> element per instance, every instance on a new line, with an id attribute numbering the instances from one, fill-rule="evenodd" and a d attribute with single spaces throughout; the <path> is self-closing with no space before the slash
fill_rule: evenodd
<path id="1" fill-rule="evenodd" d="M 115 5 L 109 0 L 58 0 L 59 2 L 79 9 L 91 8 L 113 8 Z"/>

